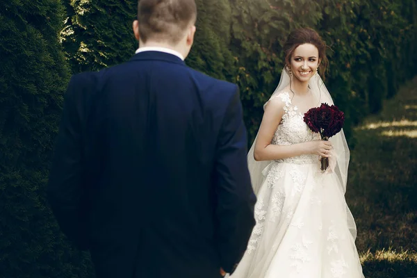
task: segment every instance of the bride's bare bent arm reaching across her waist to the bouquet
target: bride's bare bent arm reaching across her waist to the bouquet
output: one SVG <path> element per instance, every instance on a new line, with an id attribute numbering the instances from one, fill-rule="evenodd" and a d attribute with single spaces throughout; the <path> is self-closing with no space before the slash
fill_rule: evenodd
<path id="1" fill-rule="evenodd" d="M 256 139 L 254 158 L 256 161 L 272 161 L 281 158 L 290 158 L 302 154 L 318 154 L 329 157 L 327 150 L 332 149 L 332 143 L 324 140 L 313 140 L 293 145 L 272 145 L 271 141 L 277 130 L 279 122 L 284 115 L 284 102 L 279 98 L 268 101 L 263 113 L 258 138 Z"/>

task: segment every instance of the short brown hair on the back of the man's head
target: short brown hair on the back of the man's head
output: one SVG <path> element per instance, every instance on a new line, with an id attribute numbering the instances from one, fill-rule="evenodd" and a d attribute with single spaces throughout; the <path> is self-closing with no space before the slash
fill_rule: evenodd
<path id="1" fill-rule="evenodd" d="M 195 24 L 195 0 L 139 0 L 140 40 L 177 44 Z"/>

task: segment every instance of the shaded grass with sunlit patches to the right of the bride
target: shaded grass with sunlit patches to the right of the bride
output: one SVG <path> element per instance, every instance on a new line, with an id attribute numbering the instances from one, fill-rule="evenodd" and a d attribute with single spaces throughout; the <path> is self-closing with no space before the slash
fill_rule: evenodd
<path id="1" fill-rule="evenodd" d="M 417 77 L 354 130 L 346 199 L 366 278 L 417 277 Z"/>

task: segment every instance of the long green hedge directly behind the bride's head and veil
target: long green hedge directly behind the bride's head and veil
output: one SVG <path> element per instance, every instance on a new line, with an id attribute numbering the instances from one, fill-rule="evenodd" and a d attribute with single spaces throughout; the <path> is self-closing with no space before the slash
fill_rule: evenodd
<path id="1" fill-rule="evenodd" d="M 376 113 L 386 97 L 414 76 L 417 8 L 413 0 L 231 0 L 232 44 L 239 57 L 235 79 L 244 94 L 245 122 L 253 140 L 262 106 L 284 67 L 282 46 L 294 28 L 315 28 L 329 45 L 326 84 L 346 114 L 345 133 Z"/>

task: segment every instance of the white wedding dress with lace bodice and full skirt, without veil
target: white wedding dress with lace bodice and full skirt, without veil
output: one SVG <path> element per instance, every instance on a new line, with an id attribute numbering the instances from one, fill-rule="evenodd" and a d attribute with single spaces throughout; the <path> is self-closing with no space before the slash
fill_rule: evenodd
<path id="1" fill-rule="evenodd" d="M 320 140 L 288 92 L 272 97 L 285 104 L 272 144 Z M 231 278 L 363 278 L 340 169 L 323 173 L 313 154 L 268 163 L 255 188 L 256 226 Z"/>

